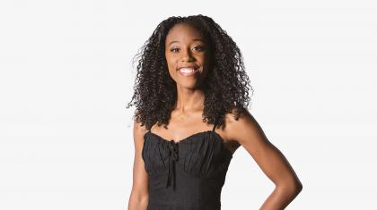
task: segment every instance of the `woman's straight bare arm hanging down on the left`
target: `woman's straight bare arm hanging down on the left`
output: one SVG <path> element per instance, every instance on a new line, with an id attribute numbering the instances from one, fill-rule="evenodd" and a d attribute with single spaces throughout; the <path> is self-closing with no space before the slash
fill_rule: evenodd
<path id="1" fill-rule="evenodd" d="M 144 144 L 144 126 L 134 122 L 135 157 L 132 190 L 128 201 L 128 210 L 145 210 L 148 205 L 148 176 L 142 158 Z"/>

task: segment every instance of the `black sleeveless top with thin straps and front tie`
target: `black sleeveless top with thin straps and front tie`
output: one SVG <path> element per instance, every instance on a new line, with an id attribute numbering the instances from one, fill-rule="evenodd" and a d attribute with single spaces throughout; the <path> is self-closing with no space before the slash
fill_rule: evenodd
<path id="1" fill-rule="evenodd" d="M 218 210 L 232 160 L 224 139 L 213 130 L 175 142 L 148 130 L 142 157 L 148 173 L 147 210 Z"/>

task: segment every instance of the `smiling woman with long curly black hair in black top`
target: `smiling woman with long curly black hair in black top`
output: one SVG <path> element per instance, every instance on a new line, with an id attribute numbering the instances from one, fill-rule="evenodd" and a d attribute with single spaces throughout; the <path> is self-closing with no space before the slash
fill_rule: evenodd
<path id="1" fill-rule="evenodd" d="M 276 184 L 260 209 L 284 209 L 297 196 L 301 182 L 248 112 L 250 80 L 224 29 L 204 15 L 171 17 L 139 55 L 127 105 L 136 105 L 129 210 L 221 209 L 241 146 Z"/>

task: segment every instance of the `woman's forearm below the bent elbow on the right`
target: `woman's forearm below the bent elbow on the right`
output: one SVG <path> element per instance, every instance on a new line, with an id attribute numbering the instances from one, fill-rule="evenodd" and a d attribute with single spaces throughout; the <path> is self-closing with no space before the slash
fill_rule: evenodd
<path id="1" fill-rule="evenodd" d="M 288 188 L 276 187 L 274 191 L 267 197 L 267 200 L 259 210 L 282 210 L 294 200 L 294 197 L 301 192 L 302 186 Z"/>

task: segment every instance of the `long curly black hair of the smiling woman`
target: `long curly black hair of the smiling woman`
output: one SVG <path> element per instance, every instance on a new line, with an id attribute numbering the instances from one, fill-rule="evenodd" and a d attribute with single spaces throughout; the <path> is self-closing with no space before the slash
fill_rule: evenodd
<path id="1" fill-rule="evenodd" d="M 134 119 L 150 130 L 157 122 L 167 128 L 177 100 L 177 87 L 169 74 L 165 59 L 165 38 L 178 23 L 190 23 L 201 31 L 209 43 L 211 70 L 202 86 L 205 100 L 203 122 L 224 125 L 224 114 L 234 113 L 237 120 L 250 104 L 254 91 L 245 72 L 241 51 L 212 18 L 202 14 L 173 16 L 162 21 L 134 57 L 137 61 L 134 95 L 127 108 L 136 105 Z M 137 60 L 136 60 L 137 58 Z"/>

